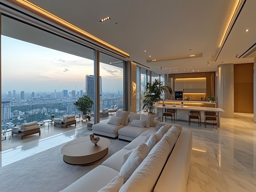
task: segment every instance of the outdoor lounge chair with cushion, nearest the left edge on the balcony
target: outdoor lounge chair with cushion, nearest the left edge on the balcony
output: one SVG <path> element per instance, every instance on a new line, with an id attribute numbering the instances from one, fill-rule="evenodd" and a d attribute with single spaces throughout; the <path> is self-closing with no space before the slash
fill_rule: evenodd
<path id="1" fill-rule="evenodd" d="M 23 137 L 32 135 L 35 133 L 39 133 L 41 135 L 40 127 L 37 124 L 37 121 L 31 122 L 31 123 L 25 123 L 20 126 L 16 126 L 12 129 L 12 134 L 21 135 L 21 139 Z"/>

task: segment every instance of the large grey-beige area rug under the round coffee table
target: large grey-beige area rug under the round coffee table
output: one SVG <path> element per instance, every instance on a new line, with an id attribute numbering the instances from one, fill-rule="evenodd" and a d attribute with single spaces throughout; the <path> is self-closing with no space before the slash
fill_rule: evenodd
<path id="1" fill-rule="evenodd" d="M 61 154 L 61 148 L 65 143 L 4 166 L 0 168 L 0 191 L 58 192 L 63 190 L 128 144 L 118 139 L 110 139 L 110 141 L 108 154 L 91 166 L 73 166 L 65 163 Z"/>

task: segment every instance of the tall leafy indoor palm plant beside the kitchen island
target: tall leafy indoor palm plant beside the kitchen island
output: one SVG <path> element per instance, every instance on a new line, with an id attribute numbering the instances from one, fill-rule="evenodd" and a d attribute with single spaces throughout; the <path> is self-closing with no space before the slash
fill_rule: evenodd
<path id="1" fill-rule="evenodd" d="M 148 113 L 153 113 L 153 106 L 157 102 L 161 101 L 161 95 L 164 91 L 169 91 L 169 93 L 173 93 L 171 87 L 163 86 L 163 82 L 161 80 L 155 79 L 154 82 L 147 82 L 146 91 L 144 92 L 143 97 L 143 109 L 148 109 Z"/>

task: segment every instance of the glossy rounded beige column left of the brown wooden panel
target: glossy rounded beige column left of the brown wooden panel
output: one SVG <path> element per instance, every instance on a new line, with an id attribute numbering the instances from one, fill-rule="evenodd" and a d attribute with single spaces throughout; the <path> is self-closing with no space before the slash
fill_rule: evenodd
<path id="1" fill-rule="evenodd" d="M 218 65 L 218 107 L 221 117 L 234 118 L 234 64 Z"/>

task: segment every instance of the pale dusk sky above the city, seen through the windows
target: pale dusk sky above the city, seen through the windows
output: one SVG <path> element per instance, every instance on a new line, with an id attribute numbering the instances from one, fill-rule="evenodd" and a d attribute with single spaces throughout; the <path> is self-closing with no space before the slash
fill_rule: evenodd
<path id="1" fill-rule="evenodd" d="M 2 93 L 84 90 L 94 75 L 92 60 L 43 46 L 2 37 Z M 100 63 L 103 92 L 123 90 L 123 69 Z M 10 90 L 11 88 L 11 90 Z"/>

